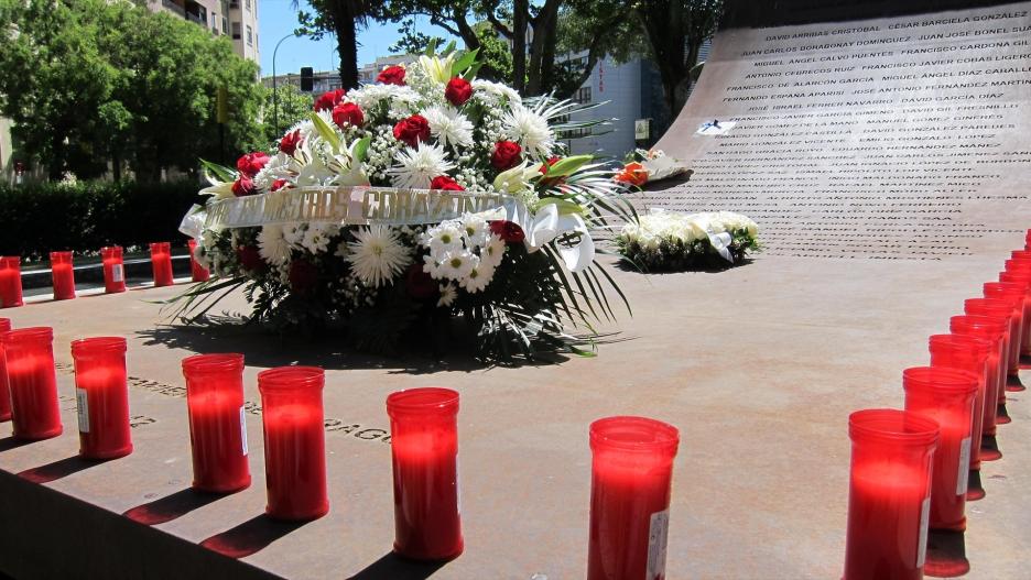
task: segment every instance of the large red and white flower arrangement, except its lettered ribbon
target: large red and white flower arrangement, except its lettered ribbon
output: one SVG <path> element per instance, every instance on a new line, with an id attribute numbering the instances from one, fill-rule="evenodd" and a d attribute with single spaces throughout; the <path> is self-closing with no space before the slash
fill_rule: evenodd
<path id="1" fill-rule="evenodd" d="M 523 99 L 475 78 L 478 68 L 475 52 L 446 51 L 326 92 L 274 151 L 235 169 L 205 163 L 211 186 L 202 193 L 213 195 L 209 214 L 227 199 L 365 186 L 492 195 L 501 207 L 416 223 L 219 227 L 203 211 L 187 216 L 196 259 L 215 277 L 181 297 L 184 317 L 242 286 L 252 320 L 337 327 L 367 350 L 434 342 L 457 326 L 493 360 L 592 352 L 593 321 L 615 316 L 606 288 L 626 298 L 595 261 L 590 231 L 606 215 L 636 216 L 612 172 L 563 156 L 558 131 L 592 123 L 557 121 L 583 107 Z"/>

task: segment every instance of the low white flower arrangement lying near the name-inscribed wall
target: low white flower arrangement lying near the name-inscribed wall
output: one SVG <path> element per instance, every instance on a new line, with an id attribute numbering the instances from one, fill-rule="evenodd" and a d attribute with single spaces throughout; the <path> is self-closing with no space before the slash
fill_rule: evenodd
<path id="1" fill-rule="evenodd" d="M 620 253 L 649 272 L 721 267 L 761 249 L 759 227 L 740 214 L 679 214 L 652 209 L 623 226 Z"/>

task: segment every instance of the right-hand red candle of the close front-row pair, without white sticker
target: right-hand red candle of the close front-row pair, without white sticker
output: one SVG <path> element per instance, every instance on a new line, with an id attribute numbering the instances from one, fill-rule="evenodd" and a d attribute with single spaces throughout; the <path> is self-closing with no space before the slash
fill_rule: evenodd
<path id="1" fill-rule="evenodd" d="M 325 371 L 316 366 L 280 366 L 258 374 L 270 517 L 304 521 L 329 512 L 324 385 Z"/>

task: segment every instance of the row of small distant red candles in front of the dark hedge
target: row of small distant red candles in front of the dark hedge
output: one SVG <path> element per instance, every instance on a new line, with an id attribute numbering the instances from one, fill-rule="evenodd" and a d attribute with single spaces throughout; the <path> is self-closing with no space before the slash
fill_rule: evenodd
<path id="1" fill-rule="evenodd" d="M 193 282 L 206 282 L 210 273 L 194 259 L 197 242 L 189 240 L 189 270 Z M 169 242 L 150 244 L 151 265 L 154 272 L 154 286 L 171 286 L 172 249 Z M 104 289 L 107 294 L 126 292 L 126 269 L 122 249 L 118 245 L 100 249 L 104 263 Z M 75 272 L 72 252 L 51 252 L 51 277 L 54 285 L 54 299 L 75 298 Z M 0 307 L 22 306 L 21 258 L 0 256 Z"/>

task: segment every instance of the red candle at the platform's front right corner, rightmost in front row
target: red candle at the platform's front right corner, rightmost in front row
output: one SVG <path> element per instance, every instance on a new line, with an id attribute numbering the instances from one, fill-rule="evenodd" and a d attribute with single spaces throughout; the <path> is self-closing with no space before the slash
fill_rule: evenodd
<path id="1" fill-rule="evenodd" d="M 858 411 L 848 436 L 844 580 L 923 578 L 937 424 L 904 411 Z"/>

